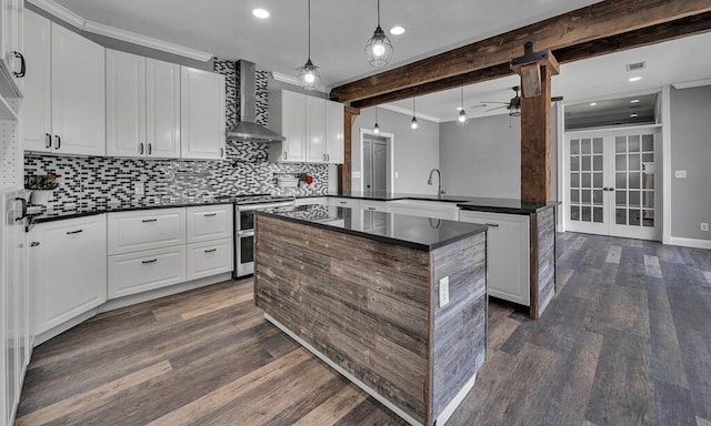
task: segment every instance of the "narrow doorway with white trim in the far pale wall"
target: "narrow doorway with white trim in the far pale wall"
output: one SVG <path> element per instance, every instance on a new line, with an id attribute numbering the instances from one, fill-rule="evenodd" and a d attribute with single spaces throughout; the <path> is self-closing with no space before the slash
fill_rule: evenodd
<path id="1" fill-rule="evenodd" d="M 367 196 L 394 192 L 392 133 L 373 134 L 370 129 L 360 130 L 360 192 Z"/>

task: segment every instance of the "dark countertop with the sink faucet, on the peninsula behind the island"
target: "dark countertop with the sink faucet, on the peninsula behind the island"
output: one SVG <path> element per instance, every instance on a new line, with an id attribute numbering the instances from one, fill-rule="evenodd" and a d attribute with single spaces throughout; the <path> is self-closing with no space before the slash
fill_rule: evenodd
<path id="1" fill-rule="evenodd" d="M 489 199 L 481 196 L 467 195 L 428 195 L 428 194 L 408 194 L 408 193 L 377 193 L 367 195 L 359 192 L 329 193 L 329 196 L 341 196 L 344 199 L 360 199 L 374 201 L 394 201 L 394 200 L 422 200 L 455 203 L 462 210 L 471 210 L 478 212 L 491 213 L 509 213 L 509 214 L 531 214 L 545 209 L 551 209 L 560 204 L 558 201 L 548 203 L 527 203 L 514 199 Z"/>

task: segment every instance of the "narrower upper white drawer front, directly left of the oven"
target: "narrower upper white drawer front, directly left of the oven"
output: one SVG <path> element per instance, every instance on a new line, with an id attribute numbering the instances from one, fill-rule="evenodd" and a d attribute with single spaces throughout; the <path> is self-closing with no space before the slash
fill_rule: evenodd
<path id="1" fill-rule="evenodd" d="M 188 207 L 186 212 L 188 243 L 232 236 L 232 204 Z"/>

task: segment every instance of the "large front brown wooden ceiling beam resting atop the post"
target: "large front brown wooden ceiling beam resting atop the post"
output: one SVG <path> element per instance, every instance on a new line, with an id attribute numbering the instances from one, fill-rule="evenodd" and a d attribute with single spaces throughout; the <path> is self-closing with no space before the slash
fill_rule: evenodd
<path id="1" fill-rule="evenodd" d="M 330 98 L 354 102 L 508 63 L 527 41 L 554 51 L 710 11 L 711 0 L 605 0 L 340 85 Z"/>

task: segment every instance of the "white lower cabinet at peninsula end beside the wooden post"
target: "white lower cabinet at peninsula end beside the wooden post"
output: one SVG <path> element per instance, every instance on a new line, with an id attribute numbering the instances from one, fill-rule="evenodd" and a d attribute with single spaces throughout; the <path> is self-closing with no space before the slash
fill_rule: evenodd
<path id="1" fill-rule="evenodd" d="M 531 305 L 529 216 L 461 211 L 461 222 L 489 225 L 487 266 L 490 296 Z"/>

